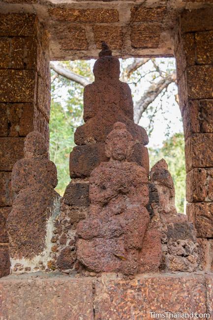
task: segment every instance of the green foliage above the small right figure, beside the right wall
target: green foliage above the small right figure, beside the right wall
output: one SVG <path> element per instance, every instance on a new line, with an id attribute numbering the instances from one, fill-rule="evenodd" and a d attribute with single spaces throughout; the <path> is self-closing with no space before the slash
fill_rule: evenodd
<path id="1" fill-rule="evenodd" d="M 175 204 L 178 212 L 184 210 L 185 198 L 185 157 L 183 133 L 175 133 L 163 142 L 163 147 L 158 149 L 149 148 L 151 167 L 160 159 L 164 158 L 168 163 L 168 169 L 175 185 Z"/>

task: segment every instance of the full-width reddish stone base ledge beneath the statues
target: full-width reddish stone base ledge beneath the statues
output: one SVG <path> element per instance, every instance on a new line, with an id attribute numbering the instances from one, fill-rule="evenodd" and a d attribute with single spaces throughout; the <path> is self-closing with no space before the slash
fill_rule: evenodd
<path id="1" fill-rule="evenodd" d="M 213 274 L 146 274 L 125 280 L 115 274 L 36 273 L 0 279 L 3 320 L 155 319 L 151 312 L 210 313 L 213 319 Z"/>

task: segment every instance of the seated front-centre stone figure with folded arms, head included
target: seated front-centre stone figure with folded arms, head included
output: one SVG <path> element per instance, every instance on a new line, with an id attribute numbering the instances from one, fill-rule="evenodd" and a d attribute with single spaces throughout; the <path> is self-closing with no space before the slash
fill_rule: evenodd
<path id="1" fill-rule="evenodd" d="M 126 158 L 133 137 L 123 123 L 114 124 L 106 139 L 109 162 L 91 172 L 90 212 L 77 226 L 77 258 L 95 272 L 135 274 L 150 222 L 146 170 Z"/>

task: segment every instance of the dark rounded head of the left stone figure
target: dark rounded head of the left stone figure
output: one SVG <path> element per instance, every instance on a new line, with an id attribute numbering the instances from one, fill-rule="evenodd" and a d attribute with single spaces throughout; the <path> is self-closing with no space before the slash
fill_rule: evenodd
<path id="1" fill-rule="evenodd" d="M 32 131 L 26 136 L 24 156 L 25 158 L 49 158 L 47 144 L 41 133 Z"/>

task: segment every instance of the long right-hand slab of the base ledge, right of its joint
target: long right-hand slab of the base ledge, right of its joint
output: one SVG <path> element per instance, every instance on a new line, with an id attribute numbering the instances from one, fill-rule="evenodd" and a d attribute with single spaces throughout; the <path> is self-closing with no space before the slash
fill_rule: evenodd
<path id="1" fill-rule="evenodd" d="M 204 277 L 198 275 L 101 279 L 95 285 L 95 320 L 152 319 L 151 312 L 165 319 L 165 312 L 205 313 L 205 295 Z"/>

